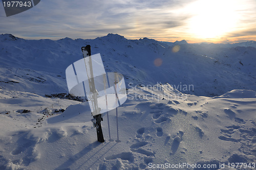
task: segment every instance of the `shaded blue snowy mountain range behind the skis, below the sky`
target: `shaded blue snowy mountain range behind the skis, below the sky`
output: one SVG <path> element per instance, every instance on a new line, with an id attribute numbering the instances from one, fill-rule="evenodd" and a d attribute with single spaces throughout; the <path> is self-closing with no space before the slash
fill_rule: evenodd
<path id="1" fill-rule="evenodd" d="M 95 39 L 26 40 L 0 35 L 0 87 L 37 94 L 68 92 L 65 70 L 82 58 L 81 46 L 100 53 L 106 72 L 124 75 L 126 86 L 169 83 L 183 93 L 214 96 L 256 90 L 255 41 L 190 44 L 130 40 L 118 34 Z M 175 51 L 175 45 L 179 45 Z M 129 85 L 130 83 L 130 85 Z M 194 89 L 186 90 L 185 86 Z"/>

